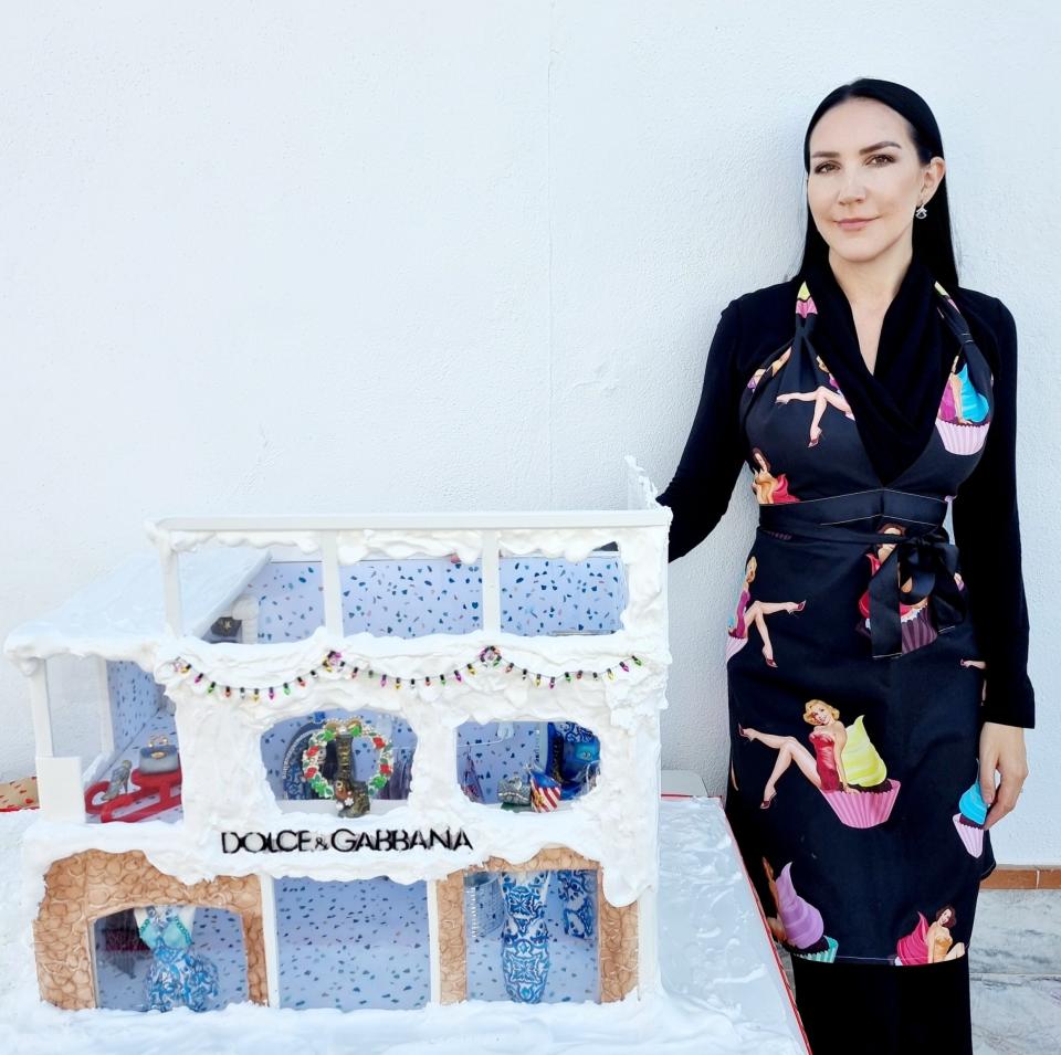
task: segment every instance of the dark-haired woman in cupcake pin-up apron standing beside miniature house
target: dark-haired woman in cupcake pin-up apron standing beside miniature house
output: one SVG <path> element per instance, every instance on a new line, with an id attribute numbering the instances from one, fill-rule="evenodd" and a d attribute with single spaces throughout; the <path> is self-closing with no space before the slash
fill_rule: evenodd
<path id="1" fill-rule="evenodd" d="M 914 92 L 860 80 L 830 93 L 808 125 L 803 167 L 799 272 L 722 314 L 691 435 L 659 497 L 673 510 L 669 556 L 711 532 L 742 462 L 755 473 L 753 450 L 768 451 L 773 475 L 784 473 L 800 500 L 757 506 L 746 560 L 756 560 L 758 589 L 805 598 L 806 611 L 774 621 L 776 665 L 764 669 L 750 650 L 728 657 L 726 812 L 746 862 L 790 863 L 795 887 L 817 892 L 836 949 L 794 957 L 816 1055 L 847 1051 L 852 1037 L 862 1052 L 968 1053 L 967 958 L 910 971 L 895 967 L 895 948 L 918 907 L 934 904 L 949 907 L 944 929 L 964 952 L 995 861 L 986 834 L 976 856 L 963 844 L 957 802 L 979 779 L 986 832 L 1027 776 L 1034 694 L 1013 320 L 1001 302 L 958 286 L 943 145 Z M 788 393 L 807 398 L 778 399 Z M 943 528 L 948 508 L 956 546 Z M 882 555 L 875 569 L 870 555 Z M 852 615 L 866 592 L 864 626 Z M 913 605 L 934 633 L 904 641 Z M 798 742 L 809 699 L 860 716 L 860 738 L 873 736 L 860 749 L 866 771 L 887 759 L 886 790 L 796 781 L 763 810 L 757 792 L 778 757 L 737 730 Z M 813 772 L 820 780 L 817 762 Z M 894 809 L 863 817 L 858 808 L 880 794 Z M 748 872 L 768 904 L 760 869 Z"/>

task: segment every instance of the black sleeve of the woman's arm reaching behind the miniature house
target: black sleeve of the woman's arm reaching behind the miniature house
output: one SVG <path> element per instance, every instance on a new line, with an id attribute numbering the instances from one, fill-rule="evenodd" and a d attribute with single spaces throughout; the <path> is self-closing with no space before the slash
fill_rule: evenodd
<path id="1" fill-rule="evenodd" d="M 722 313 L 707 351 L 700 405 L 674 478 L 656 498 L 673 511 L 668 561 L 698 546 L 729 505 L 742 462 L 739 338 L 740 308 L 734 300 Z"/>

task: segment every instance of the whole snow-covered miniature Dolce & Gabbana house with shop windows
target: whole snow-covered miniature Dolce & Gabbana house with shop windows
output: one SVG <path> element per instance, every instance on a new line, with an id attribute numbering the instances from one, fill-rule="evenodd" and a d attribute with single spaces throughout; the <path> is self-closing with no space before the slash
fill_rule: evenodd
<path id="1" fill-rule="evenodd" d="M 654 991 L 671 514 L 627 468 L 614 511 L 161 519 L 12 632 L 42 999 Z"/>

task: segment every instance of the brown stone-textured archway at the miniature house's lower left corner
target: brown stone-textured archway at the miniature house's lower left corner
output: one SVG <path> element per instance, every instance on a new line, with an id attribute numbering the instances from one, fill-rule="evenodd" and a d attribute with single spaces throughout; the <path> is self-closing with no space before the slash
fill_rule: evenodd
<path id="1" fill-rule="evenodd" d="M 92 927 L 97 919 L 144 905 L 195 905 L 240 916 L 248 995 L 254 1003 L 267 1002 L 262 892 L 256 876 L 218 876 L 188 886 L 159 872 L 139 851 L 90 850 L 56 861 L 44 883 L 44 899 L 33 922 L 42 1000 L 69 1011 L 96 1006 Z"/>

